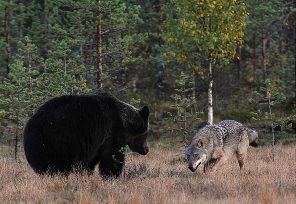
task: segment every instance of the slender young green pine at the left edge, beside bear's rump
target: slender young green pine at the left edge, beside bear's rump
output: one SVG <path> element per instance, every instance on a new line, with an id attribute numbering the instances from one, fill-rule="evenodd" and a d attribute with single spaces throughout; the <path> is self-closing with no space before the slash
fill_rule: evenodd
<path id="1" fill-rule="evenodd" d="M 10 65 L 8 77 L 0 85 L 0 90 L 5 93 L 0 97 L 1 117 L 12 122 L 14 158 L 18 159 L 22 129 L 26 120 L 33 114 L 42 100 L 37 89 L 39 81 L 38 69 L 42 65 L 42 58 L 37 54 L 37 47 L 28 37 L 24 42 L 19 42 L 19 59 Z M 37 65 L 38 64 L 38 65 Z"/>

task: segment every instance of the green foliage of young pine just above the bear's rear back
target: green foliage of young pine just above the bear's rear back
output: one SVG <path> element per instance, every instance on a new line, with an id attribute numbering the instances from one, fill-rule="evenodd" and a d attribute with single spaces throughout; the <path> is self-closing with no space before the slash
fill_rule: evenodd
<path id="1" fill-rule="evenodd" d="M 65 41 L 56 44 L 57 49 L 48 52 L 40 88 L 45 86 L 44 93 L 49 98 L 90 93 L 91 89 L 86 86 L 86 79 L 83 77 L 87 70 L 85 66 L 77 64 L 80 56 L 72 56 L 73 52 Z"/>

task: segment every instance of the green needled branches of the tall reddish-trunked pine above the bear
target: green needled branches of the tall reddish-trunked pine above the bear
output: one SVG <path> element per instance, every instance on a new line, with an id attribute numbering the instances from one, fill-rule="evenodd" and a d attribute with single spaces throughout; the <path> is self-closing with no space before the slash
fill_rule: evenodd
<path id="1" fill-rule="evenodd" d="M 122 73 L 127 70 L 127 65 L 141 61 L 140 56 L 134 56 L 133 46 L 148 38 L 147 33 L 135 30 L 143 23 L 139 17 L 140 6 L 126 6 L 122 0 L 58 0 L 57 4 L 67 18 L 65 24 L 56 24 L 51 29 L 67 44 L 79 48 L 80 60 L 88 69 L 97 72 L 99 68 L 94 66 L 98 66 L 98 58 L 102 58 L 105 89 L 129 86 Z M 98 47 L 102 48 L 101 53 Z"/>

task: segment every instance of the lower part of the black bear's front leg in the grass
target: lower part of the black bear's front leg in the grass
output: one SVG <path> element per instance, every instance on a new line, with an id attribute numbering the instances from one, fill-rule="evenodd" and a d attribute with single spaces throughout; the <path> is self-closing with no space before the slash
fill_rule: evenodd
<path id="1" fill-rule="evenodd" d="M 124 154 L 118 152 L 114 155 L 111 155 L 107 158 L 102 158 L 99 164 L 100 174 L 103 177 L 111 177 L 112 175 L 119 177 L 123 165 L 124 165 Z"/>

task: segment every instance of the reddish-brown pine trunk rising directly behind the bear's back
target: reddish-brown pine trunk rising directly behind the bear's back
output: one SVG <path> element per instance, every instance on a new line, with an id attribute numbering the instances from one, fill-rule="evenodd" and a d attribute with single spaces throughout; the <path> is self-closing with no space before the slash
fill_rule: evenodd
<path id="1" fill-rule="evenodd" d="M 101 29 L 101 21 L 102 21 L 102 8 L 101 8 L 101 0 L 98 0 L 98 25 L 97 25 L 97 89 L 102 90 L 103 88 L 103 55 L 102 55 L 102 29 Z"/>

